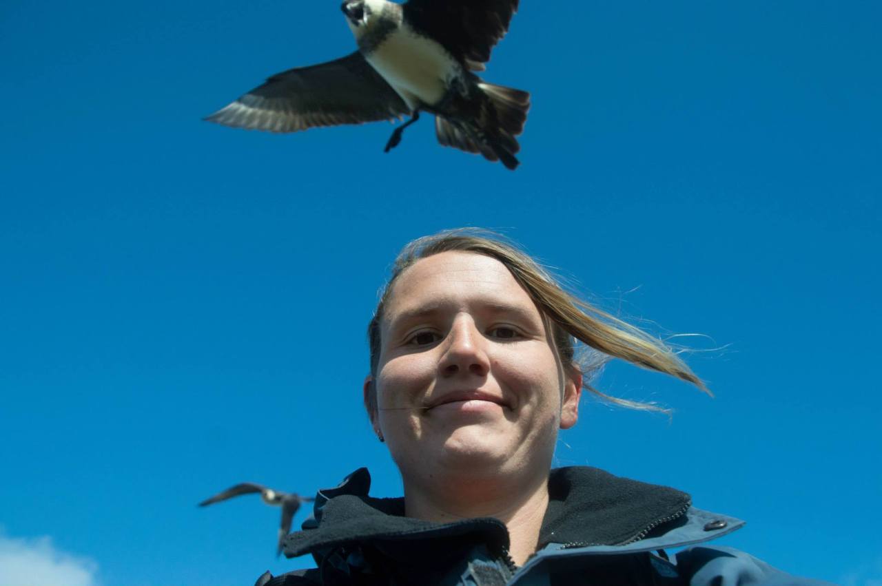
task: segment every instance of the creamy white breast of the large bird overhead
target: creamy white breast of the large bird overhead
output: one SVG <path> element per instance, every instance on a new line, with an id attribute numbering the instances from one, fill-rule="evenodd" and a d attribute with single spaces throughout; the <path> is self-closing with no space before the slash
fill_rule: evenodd
<path id="1" fill-rule="evenodd" d="M 401 26 L 365 56 L 410 108 L 433 105 L 446 92 L 459 63 L 436 41 Z"/>

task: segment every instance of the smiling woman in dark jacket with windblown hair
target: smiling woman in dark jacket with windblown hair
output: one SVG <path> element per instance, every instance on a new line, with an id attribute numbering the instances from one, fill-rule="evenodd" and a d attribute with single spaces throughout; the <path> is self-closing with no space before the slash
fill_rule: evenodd
<path id="1" fill-rule="evenodd" d="M 404 498 L 368 496 L 364 469 L 319 491 L 286 547 L 318 568 L 267 573 L 258 586 L 819 583 L 727 548 L 669 560 L 665 548 L 743 522 L 692 508 L 672 488 L 551 470 L 558 429 L 576 424 L 582 389 L 597 392 L 587 385 L 597 361 L 576 359 L 576 339 L 706 389 L 668 347 L 565 293 L 494 234 L 407 245 L 368 336 L 364 404 Z"/>

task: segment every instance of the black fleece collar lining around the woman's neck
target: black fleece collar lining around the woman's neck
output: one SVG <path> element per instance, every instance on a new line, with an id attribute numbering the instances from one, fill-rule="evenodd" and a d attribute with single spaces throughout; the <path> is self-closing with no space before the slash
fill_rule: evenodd
<path id="1" fill-rule="evenodd" d="M 341 484 L 318 492 L 314 518 L 288 536 L 288 557 L 318 553 L 340 545 L 430 538 L 481 540 L 507 549 L 508 532 L 497 519 L 482 517 L 456 523 L 431 523 L 404 516 L 404 499 L 368 495 L 366 468 Z M 618 478 L 589 467 L 559 468 L 549 476 L 549 507 L 542 520 L 539 546 L 622 545 L 682 516 L 690 496 L 667 486 Z"/>

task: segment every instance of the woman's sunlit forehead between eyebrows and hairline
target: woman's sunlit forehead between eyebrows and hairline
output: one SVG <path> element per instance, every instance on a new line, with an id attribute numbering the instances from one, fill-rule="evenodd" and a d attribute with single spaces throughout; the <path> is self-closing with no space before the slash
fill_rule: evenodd
<path id="1" fill-rule="evenodd" d="M 442 252 L 422 258 L 392 285 L 385 316 L 431 305 L 519 305 L 539 314 L 529 294 L 495 258 L 472 252 Z"/>

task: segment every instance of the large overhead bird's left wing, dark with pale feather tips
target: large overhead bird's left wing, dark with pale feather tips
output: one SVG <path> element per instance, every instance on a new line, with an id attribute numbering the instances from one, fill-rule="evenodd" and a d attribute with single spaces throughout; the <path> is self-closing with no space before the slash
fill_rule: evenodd
<path id="1" fill-rule="evenodd" d="M 282 71 L 206 120 L 249 130 L 295 132 L 392 120 L 409 113 L 392 86 L 355 51 L 335 61 Z"/>

